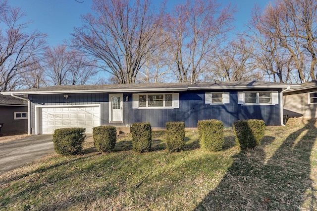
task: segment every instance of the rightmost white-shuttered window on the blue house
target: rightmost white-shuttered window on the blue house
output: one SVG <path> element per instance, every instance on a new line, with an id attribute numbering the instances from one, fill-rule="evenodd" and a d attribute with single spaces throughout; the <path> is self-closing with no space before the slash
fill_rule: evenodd
<path id="1" fill-rule="evenodd" d="M 275 104 L 278 104 L 278 92 L 277 91 L 238 92 L 238 104 L 275 105 Z"/>

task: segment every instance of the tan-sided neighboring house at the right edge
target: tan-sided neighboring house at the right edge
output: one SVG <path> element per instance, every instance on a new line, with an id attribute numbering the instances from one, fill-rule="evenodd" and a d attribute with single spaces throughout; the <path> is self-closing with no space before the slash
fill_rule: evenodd
<path id="1" fill-rule="evenodd" d="M 317 80 L 301 83 L 283 94 L 287 117 L 317 118 Z"/>

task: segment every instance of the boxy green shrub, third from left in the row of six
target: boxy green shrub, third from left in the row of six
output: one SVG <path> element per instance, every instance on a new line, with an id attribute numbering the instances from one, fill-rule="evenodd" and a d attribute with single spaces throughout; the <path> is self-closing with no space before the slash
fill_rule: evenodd
<path id="1" fill-rule="evenodd" d="M 151 150 L 152 129 L 150 123 L 133 123 L 131 133 L 133 151 L 142 153 Z"/>

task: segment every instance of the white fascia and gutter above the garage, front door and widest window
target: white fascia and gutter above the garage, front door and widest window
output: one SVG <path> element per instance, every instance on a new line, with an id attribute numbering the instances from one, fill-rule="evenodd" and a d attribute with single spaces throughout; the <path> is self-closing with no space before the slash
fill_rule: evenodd
<path id="1" fill-rule="evenodd" d="M 166 92 L 166 91 L 187 91 L 187 87 L 182 88 L 139 88 L 139 89 L 86 89 L 86 90 L 54 90 L 54 91 L 6 91 L 0 92 L 3 95 L 19 94 L 64 94 L 64 93 L 122 93 L 122 92 Z"/>

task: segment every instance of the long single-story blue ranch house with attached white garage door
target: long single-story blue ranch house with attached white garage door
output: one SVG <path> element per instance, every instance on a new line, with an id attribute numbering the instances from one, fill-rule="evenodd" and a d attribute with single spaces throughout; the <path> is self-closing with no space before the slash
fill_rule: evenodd
<path id="1" fill-rule="evenodd" d="M 32 134 L 100 125 L 129 126 L 150 122 L 165 128 L 168 121 L 196 128 L 204 119 L 263 119 L 266 125 L 283 125 L 282 92 L 295 84 L 264 81 L 75 85 L 7 91 L 28 95 Z"/>

